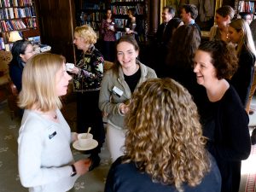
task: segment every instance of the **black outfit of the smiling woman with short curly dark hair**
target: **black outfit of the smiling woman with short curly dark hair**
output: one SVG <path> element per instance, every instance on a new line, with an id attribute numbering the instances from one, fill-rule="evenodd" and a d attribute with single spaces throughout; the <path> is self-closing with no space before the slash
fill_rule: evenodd
<path id="1" fill-rule="evenodd" d="M 223 192 L 238 192 L 241 160 L 251 152 L 248 115 L 232 85 L 218 102 L 212 102 L 212 120 L 204 127 L 207 148 L 215 157 Z"/>

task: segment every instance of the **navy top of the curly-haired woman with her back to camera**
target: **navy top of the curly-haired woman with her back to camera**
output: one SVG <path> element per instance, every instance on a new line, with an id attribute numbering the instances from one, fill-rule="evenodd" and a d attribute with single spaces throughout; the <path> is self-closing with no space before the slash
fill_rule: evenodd
<path id="1" fill-rule="evenodd" d="M 201 183 L 195 187 L 183 184 L 185 192 L 218 192 L 220 191 L 221 177 L 215 160 L 211 157 L 211 172 L 202 179 Z M 111 166 L 105 192 L 177 192 L 173 185 L 155 183 L 147 173 L 139 172 L 136 164 L 121 163 L 121 158 L 117 159 Z"/>

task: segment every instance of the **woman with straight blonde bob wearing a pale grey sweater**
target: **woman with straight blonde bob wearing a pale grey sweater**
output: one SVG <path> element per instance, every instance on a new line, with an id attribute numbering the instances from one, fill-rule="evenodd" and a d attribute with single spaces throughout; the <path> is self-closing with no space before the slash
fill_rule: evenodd
<path id="1" fill-rule="evenodd" d="M 23 70 L 19 106 L 25 108 L 18 138 L 21 184 L 29 191 L 65 192 L 88 171 L 90 160 L 73 160 L 71 133 L 60 108 L 60 96 L 67 94 L 65 58 L 34 55 Z"/>

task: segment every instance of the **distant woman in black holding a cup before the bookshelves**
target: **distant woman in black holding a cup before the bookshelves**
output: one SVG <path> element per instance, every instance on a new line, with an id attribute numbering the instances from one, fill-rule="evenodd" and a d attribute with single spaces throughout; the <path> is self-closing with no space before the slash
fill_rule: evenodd
<path id="1" fill-rule="evenodd" d="M 137 42 L 142 42 L 143 39 L 141 37 L 143 36 L 143 20 L 138 18 L 137 11 L 135 8 L 128 9 L 128 20 L 125 26 L 129 30 L 125 32 L 126 35 L 130 35 L 134 37 Z"/>

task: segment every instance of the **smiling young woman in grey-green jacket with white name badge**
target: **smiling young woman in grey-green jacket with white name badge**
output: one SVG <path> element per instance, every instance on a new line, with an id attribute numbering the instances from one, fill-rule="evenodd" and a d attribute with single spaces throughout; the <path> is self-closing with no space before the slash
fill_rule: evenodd
<path id="1" fill-rule="evenodd" d="M 131 94 L 147 79 L 156 78 L 154 70 L 137 60 L 139 46 L 135 38 L 123 36 L 116 44 L 117 61 L 102 80 L 99 108 L 108 114 L 107 141 L 112 160 L 123 154 L 124 118 Z"/>

